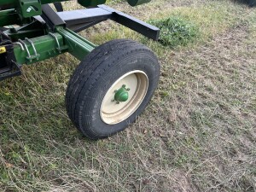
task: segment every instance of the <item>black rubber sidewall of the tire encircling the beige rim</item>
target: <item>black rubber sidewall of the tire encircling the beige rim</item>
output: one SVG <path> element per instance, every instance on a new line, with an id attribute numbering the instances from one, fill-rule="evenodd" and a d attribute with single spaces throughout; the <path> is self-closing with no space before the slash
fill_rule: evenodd
<path id="1" fill-rule="evenodd" d="M 105 61 L 103 65 L 108 65 L 109 61 Z M 89 131 L 93 132 L 98 137 L 108 137 L 116 132 L 124 130 L 127 125 L 130 125 L 137 119 L 137 116 L 143 112 L 148 102 L 153 96 L 154 90 L 157 87 L 160 67 L 157 58 L 151 51 L 137 51 L 136 53 L 123 55 L 116 58 L 112 62 L 112 66 L 108 67 L 101 78 L 98 79 L 94 87 L 90 90 L 90 98 L 84 96 L 83 101 L 89 104 L 80 106 L 79 124 Z M 115 125 L 108 125 L 102 121 L 101 106 L 104 96 L 107 94 L 112 84 L 125 73 L 131 71 L 143 71 L 148 76 L 148 91 L 143 99 L 143 102 L 130 117 Z M 84 103 L 84 102 L 82 102 Z"/>

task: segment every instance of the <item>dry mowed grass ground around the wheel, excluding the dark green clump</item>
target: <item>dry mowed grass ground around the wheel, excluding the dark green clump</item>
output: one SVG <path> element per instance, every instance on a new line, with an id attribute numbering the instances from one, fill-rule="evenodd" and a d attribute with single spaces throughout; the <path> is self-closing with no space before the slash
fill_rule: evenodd
<path id="1" fill-rule="evenodd" d="M 256 9 L 224 0 L 112 5 L 143 20 L 178 15 L 199 26 L 198 38 L 170 49 L 113 22 L 81 32 L 96 44 L 132 38 L 160 58 L 148 108 L 101 141 L 67 118 L 72 56 L 0 82 L 0 191 L 255 191 Z"/>

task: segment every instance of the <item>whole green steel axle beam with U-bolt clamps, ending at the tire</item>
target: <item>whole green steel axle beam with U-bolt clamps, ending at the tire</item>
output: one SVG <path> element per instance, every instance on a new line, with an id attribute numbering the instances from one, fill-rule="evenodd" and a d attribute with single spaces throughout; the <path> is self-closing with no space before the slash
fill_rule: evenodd
<path id="1" fill-rule="evenodd" d="M 22 65 L 44 61 L 65 52 L 81 61 L 95 47 L 95 44 L 77 33 L 59 27 L 55 33 L 16 42 L 14 51 L 17 63 Z"/>

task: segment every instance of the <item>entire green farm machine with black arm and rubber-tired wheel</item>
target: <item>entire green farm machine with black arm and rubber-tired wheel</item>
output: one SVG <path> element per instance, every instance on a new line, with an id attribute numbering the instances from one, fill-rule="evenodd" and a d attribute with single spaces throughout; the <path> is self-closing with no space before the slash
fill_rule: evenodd
<path id="1" fill-rule="evenodd" d="M 127 0 L 131 6 L 149 1 Z M 80 64 L 67 86 L 68 116 L 86 137 L 111 136 L 146 108 L 160 65 L 143 44 L 115 39 L 96 46 L 77 32 L 103 20 L 114 20 L 154 40 L 160 30 L 103 5 L 106 0 L 78 0 L 86 9 L 73 11 L 63 11 L 61 2 L 65 1 L 0 1 L 0 80 L 20 75 L 22 65 L 70 53 Z"/>

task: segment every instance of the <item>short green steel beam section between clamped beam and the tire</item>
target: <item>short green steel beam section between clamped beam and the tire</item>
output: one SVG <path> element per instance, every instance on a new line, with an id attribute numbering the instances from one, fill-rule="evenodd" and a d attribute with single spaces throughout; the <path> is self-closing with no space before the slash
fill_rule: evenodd
<path id="1" fill-rule="evenodd" d="M 65 44 L 68 46 L 68 52 L 82 61 L 86 55 L 96 48 L 95 44 L 79 36 L 79 34 L 62 27 L 56 28 L 65 40 Z"/>

